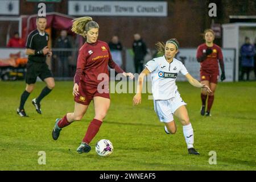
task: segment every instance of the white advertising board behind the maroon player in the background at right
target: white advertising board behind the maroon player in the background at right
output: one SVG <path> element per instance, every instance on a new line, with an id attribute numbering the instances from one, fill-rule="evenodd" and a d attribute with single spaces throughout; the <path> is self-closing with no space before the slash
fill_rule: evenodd
<path id="1" fill-rule="evenodd" d="M 223 53 L 225 76 L 226 76 L 226 80 L 224 81 L 234 81 L 235 50 L 222 49 L 222 53 Z M 192 77 L 200 81 L 200 63 L 198 63 L 196 60 L 196 49 L 181 48 L 176 58 L 184 63 L 185 67 L 188 69 L 188 72 L 190 75 L 192 75 Z M 220 74 L 221 74 L 221 69 L 220 69 Z M 185 81 L 186 78 L 183 75 L 179 74 L 179 76 L 177 77 L 177 80 Z M 220 81 L 220 77 L 218 81 Z"/>

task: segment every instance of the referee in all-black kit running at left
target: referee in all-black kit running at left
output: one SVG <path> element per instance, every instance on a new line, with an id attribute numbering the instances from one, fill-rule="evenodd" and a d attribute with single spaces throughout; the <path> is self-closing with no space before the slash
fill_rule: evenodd
<path id="1" fill-rule="evenodd" d="M 46 82 L 46 87 L 37 98 L 32 100 L 36 111 L 41 114 L 40 101 L 49 94 L 55 86 L 52 72 L 46 64 L 46 56 L 52 56 L 52 51 L 47 47 L 49 35 L 46 30 L 46 17 L 38 16 L 36 18 L 36 30 L 30 32 L 27 38 L 26 55 L 28 55 L 27 73 L 26 73 L 26 89 L 20 97 L 20 105 L 17 109 L 17 114 L 20 117 L 27 117 L 24 104 L 28 96 L 35 88 L 36 78 L 39 77 Z"/>

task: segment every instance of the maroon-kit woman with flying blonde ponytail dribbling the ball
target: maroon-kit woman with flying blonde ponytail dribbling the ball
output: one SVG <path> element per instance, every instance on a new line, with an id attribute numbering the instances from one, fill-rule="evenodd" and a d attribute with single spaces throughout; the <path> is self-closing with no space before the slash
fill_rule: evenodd
<path id="1" fill-rule="evenodd" d="M 90 122 L 82 143 L 77 148 L 80 154 L 90 151 L 89 143 L 98 133 L 110 106 L 108 65 L 123 76 L 133 78 L 132 73 L 125 73 L 114 63 L 108 44 L 97 40 L 98 29 L 98 23 L 89 16 L 73 20 L 72 31 L 86 38 L 86 43 L 79 50 L 74 77 L 75 110 L 73 113 L 64 115 L 62 119 L 57 118 L 52 131 L 52 138 L 57 140 L 63 127 L 82 119 L 93 100 L 95 116 Z M 102 77 L 103 80 L 101 80 Z"/>

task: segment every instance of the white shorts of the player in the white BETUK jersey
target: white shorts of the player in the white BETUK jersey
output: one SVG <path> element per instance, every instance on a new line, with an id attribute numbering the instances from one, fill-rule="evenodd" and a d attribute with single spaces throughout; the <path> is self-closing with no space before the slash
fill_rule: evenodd
<path id="1" fill-rule="evenodd" d="M 154 109 L 160 122 L 171 122 L 174 121 L 174 112 L 183 105 L 187 105 L 182 98 L 180 93 L 176 91 L 175 97 L 168 100 L 154 100 Z"/>

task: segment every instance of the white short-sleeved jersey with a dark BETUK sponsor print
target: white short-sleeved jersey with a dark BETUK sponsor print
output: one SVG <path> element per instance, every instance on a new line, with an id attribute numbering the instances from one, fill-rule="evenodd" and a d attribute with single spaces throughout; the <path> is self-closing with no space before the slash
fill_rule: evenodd
<path id="1" fill-rule="evenodd" d="M 175 96 L 175 83 L 178 73 L 187 75 L 188 71 L 181 61 L 174 58 L 168 63 L 164 56 L 154 58 L 145 64 L 151 72 L 152 94 L 154 100 L 168 100 Z"/>

